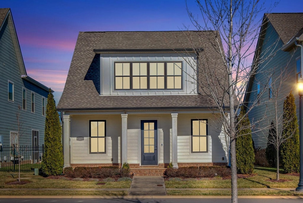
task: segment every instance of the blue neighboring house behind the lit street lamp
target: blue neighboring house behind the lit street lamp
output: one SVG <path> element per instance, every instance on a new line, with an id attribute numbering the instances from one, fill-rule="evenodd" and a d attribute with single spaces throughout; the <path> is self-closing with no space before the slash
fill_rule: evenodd
<path id="1" fill-rule="evenodd" d="M 272 97 L 273 91 L 278 91 L 279 115 L 283 112 L 283 102 L 292 91 L 297 105 L 297 117 L 299 118 L 299 96 L 297 81 L 300 77 L 300 47 L 303 42 L 303 13 L 268 13 L 264 14 L 264 25 L 261 27 L 257 44 L 255 62 L 260 62 L 257 74 L 250 78 L 245 105 L 251 108 L 254 102 L 260 105 L 254 107 L 249 113 L 251 122 L 262 120 L 253 128 L 255 147 L 266 147 L 268 129 L 256 132 L 258 127 L 269 125 L 274 113 Z M 269 53 L 271 57 L 266 58 Z M 266 58 L 266 60 L 264 60 Z M 261 70 L 261 71 L 260 71 Z M 281 78 L 281 76 L 283 76 Z M 255 131 L 255 132 L 254 132 Z"/>

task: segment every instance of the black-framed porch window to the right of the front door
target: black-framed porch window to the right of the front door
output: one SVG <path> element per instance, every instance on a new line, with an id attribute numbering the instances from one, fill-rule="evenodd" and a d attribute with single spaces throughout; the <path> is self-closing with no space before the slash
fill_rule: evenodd
<path id="1" fill-rule="evenodd" d="M 207 119 L 191 120 L 191 151 L 207 152 Z"/>

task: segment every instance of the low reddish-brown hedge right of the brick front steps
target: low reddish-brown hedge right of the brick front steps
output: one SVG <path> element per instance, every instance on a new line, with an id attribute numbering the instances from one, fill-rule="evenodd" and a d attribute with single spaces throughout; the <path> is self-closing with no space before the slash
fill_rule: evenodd
<path id="1" fill-rule="evenodd" d="M 227 166 L 190 166 L 181 168 L 167 168 L 164 171 L 167 178 L 212 178 L 215 176 L 228 177 L 231 170 Z"/>

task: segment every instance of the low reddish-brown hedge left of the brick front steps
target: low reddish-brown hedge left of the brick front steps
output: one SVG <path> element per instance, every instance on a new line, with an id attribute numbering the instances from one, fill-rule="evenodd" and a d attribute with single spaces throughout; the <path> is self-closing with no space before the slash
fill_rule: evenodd
<path id="1" fill-rule="evenodd" d="M 119 168 L 118 166 L 105 167 L 72 167 L 64 169 L 64 174 L 69 178 L 111 178 L 111 177 L 129 177 L 129 169 Z"/>

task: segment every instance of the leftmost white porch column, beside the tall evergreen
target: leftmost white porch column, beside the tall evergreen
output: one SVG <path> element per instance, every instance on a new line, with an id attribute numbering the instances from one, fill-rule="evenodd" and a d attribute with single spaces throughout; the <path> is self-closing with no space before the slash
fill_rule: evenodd
<path id="1" fill-rule="evenodd" d="M 63 136 L 64 136 L 64 167 L 70 166 L 70 124 L 69 124 L 70 115 L 63 115 Z"/>

